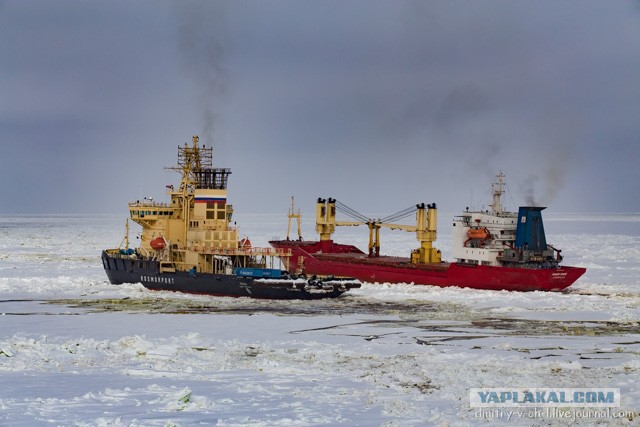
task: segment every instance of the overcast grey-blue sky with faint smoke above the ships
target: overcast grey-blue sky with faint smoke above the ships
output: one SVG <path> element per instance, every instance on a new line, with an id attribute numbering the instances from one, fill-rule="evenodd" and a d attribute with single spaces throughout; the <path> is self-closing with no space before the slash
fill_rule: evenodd
<path id="1" fill-rule="evenodd" d="M 640 212 L 638 1 L 0 0 L 0 213 L 164 200 L 193 134 L 236 212 Z"/>

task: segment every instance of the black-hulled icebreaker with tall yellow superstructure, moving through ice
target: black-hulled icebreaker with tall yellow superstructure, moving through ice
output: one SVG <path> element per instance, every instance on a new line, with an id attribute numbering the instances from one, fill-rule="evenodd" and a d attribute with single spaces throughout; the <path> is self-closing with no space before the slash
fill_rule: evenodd
<path id="1" fill-rule="evenodd" d="M 292 275 L 290 249 L 252 247 L 231 225 L 227 203 L 229 169 L 212 167 L 213 150 L 178 147 L 178 188 L 167 186 L 169 203 L 151 199 L 129 203 L 129 214 L 142 226 L 137 249 L 129 247 L 129 223 L 117 249 L 102 252 L 113 284 L 142 283 L 148 289 L 268 299 L 335 298 L 359 288 L 352 278 Z M 235 223 L 234 223 L 235 224 Z M 276 267 L 283 268 L 276 268 Z"/>

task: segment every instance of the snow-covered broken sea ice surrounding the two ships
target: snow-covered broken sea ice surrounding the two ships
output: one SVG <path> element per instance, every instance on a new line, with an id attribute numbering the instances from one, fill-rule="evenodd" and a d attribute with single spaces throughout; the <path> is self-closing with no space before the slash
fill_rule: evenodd
<path id="1" fill-rule="evenodd" d="M 573 422 L 479 414 L 480 387 L 619 388 L 610 416 L 577 421 L 640 425 L 640 214 L 546 212 L 564 264 L 587 268 L 566 292 L 364 284 L 312 302 L 110 285 L 100 251 L 124 217 L 0 216 L 0 425 Z M 439 213 L 447 260 L 451 217 Z M 254 246 L 286 231 L 285 215 L 234 219 Z M 414 245 L 382 233 L 383 253 Z"/>

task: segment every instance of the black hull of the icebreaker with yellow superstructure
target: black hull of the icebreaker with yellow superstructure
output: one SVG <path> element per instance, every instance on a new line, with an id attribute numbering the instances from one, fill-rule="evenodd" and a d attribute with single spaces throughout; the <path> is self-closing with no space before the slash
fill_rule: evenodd
<path id="1" fill-rule="evenodd" d="M 235 274 L 190 274 L 186 271 L 160 272 L 160 263 L 152 260 L 111 256 L 102 252 L 102 263 L 114 285 L 142 283 L 151 290 L 174 291 L 228 297 L 315 300 L 336 298 L 351 288 L 360 287 L 353 279 L 316 279 L 282 277 L 255 278 Z"/>

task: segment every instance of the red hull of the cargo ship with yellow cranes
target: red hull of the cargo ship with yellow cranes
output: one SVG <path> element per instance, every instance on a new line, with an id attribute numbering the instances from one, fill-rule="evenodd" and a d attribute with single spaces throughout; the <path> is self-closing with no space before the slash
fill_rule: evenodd
<path id="1" fill-rule="evenodd" d="M 462 263 L 412 264 L 408 258 L 369 257 L 352 245 L 312 241 L 271 241 L 291 249 L 290 269 L 306 274 L 355 277 L 371 283 L 413 283 L 508 291 L 559 291 L 586 269 L 580 267 L 512 268 Z M 299 264 L 300 257 L 302 266 Z"/>

